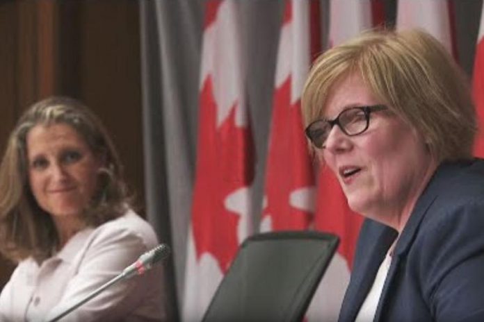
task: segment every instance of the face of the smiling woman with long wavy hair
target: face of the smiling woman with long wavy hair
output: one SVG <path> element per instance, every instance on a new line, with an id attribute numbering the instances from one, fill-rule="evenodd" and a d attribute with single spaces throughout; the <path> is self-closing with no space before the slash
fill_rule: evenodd
<path id="1" fill-rule="evenodd" d="M 67 124 L 34 126 L 26 144 L 29 183 L 38 205 L 54 220 L 79 218 L 96 190 L 101 158 Z"/>

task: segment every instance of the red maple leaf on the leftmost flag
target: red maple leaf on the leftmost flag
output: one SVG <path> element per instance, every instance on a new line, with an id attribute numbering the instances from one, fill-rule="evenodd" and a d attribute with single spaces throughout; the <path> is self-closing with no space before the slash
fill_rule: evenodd
<path id="1" fill-rule="evenodd" d="M 211 253 L 225 273 L 237 251 L 239 214 L 227 210 L 225 198 L 254 178 L 253 142 L 250 126 L 235 125 L 234 103 L 229 116 L 217 128 L 217 104 L 211 76 L 200 93 L 200 129 L 197 146 L 197 174 L 193 196 L 193 235 L 197 260 Z"/>

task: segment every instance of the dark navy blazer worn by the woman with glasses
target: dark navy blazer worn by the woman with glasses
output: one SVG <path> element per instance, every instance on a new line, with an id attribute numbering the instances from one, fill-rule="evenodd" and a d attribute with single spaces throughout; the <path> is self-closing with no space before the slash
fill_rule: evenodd
<path id="1" fill-rule="evenodd" d="M 356 319 L 396 235 L 364 221 L 340 322 Z M 437 168 L 398 239 L 374 321 L 484 321 L 484 160 Z"/>

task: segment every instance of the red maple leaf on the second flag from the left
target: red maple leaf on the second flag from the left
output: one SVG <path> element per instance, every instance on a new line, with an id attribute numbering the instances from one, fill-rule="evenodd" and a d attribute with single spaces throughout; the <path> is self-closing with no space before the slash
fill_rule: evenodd
<path id="1" fill-rule="evenodd" d="M 291 77 L 274 95 L 266 173 L 267 205 L 263 216 L 272 217 L 273 230 L 308 228 L 311 212 L 289 203 L 289 196 L 296 189 L 314 185 L 300 101 L 291 105 Z"/>

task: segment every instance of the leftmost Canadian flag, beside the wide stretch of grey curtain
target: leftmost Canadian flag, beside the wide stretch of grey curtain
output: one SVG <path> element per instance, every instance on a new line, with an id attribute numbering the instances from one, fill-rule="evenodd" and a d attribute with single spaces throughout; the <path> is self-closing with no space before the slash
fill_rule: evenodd
<path id="1" fill-rule="evenodd" d="M 245 103 L 239 3 L 205 1 L 200 121 L 182 319 L 200 321 L 252 232 L 254 147 Z"/>

